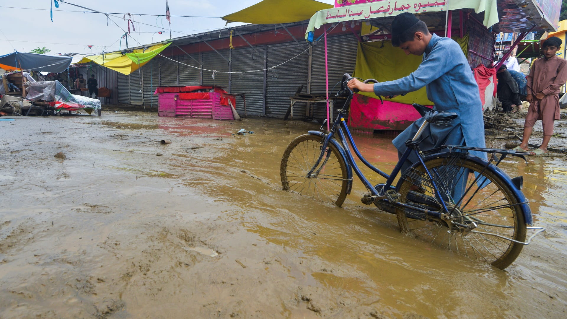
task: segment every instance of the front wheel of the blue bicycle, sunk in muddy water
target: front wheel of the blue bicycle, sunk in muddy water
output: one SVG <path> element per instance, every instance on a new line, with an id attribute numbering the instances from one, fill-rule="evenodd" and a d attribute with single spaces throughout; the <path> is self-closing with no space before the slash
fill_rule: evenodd
<path id="1" fill-rule="evenodd" d="M 282 187 L 341 207 L 348 187 L 346 163 L 334 145 L 321 150 L 322 140 L 320 136 L 306 134 L 291 141 L 280 166 Z M 324 154 L 319 166 L 308 176 L 321 152 Z"/>

